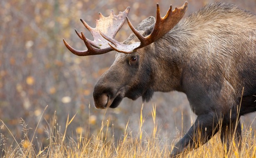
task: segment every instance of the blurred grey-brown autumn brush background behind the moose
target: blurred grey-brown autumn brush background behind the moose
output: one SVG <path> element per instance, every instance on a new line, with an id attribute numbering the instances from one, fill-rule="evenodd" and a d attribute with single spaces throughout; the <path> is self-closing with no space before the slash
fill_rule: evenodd
<path id="1" fill-rule="evenodd" d="M 256 12 L 256 0 L 223 0 Z M 169 5 L 180 7 L 180 0 L 1 0 L 0 1 L 0 120 L 21 141 L 24 139 L 21 118 L 33 136 L 42 112 L 48 105 L 35 135 L 37 141 L 47 144 L 47 127 L 56 111 L 60 132 L 63 132 L 67 115 L 75 119 L 67 130 L 67 136 L 81 131 L 96 134 L 103 118 L 114 125 L 114 136 L 119 139 L 129 121 L 129 128 L 138 130 L 142 99 L 124 99 L 116 109 L 95 109 L 93 88 L 99 77 L 114 62 L 115 52 L 99 56 L 78 57 L 67 50 L 62 38 L 75 49 L 86 47 L 74 29 L 89 31 L 80 22 L 83 18 L 95 27 L 98 12 L 108 16 L 131 7 L 129 18 L 133 25 L 149 16 L 155 16 L 159 2 L 162 16 Z M 188 16 L 214 0 L 188 0 Z M 132 31 L 125 22 L 115 39 L 125 40 Z M 89 106 L 90 105 L 90 106 Z M 160 133 L 173 140 L 186 132 L 196 116 L 191 112 L 186 95 L 178 92 L 155 93 L 153 99 L 144 103 L 146 117 L 144 130 L 151 133 L 150 119 L 152 106 L 157 106 L 157 124 Z M 251 125 L 255 114 L 242 117 L 246 125 Z M 256 121 L 253 127 L 256 127 Z M 7 128 L 1 128 L 9 143 L 13 141 Z M 84 133 L 85 134 L 85 133 Z M 74 134 L 75 135 L 75 134 Z M 1 144 L 0 140 L 0 144 Z"/>

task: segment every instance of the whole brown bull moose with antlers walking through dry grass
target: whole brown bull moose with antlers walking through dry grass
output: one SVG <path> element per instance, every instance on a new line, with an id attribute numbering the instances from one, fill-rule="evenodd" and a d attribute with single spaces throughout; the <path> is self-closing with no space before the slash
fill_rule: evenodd
<path id="1" fill-rule="evenodd" d="M 124 97 L 149 101 L 154 91 L 181 91 L 197 115 L 170 157 L 197 148 L 220 132 L 227 150 L 240 146 L 240 116 L 256 111 L 256 15 L 224 2 L 208 4 L 183 18 L 188 2 L 164 17 L 148 17 L 135 28 L 130 8 L 109 17 L 99 13 L 96 27 L 81 19 L 94 41 L 77 35 L 87 50 L 65 46 L 78 56 L 117 51 L 115 61 L 94 87 L 96 108 L 116 108 Z M 127 20 L 132 34 L 114 39 Z M 220 121 L 221 120 L 221 121 Z M 221 122 L 221 123 L 220 123 Z"/>

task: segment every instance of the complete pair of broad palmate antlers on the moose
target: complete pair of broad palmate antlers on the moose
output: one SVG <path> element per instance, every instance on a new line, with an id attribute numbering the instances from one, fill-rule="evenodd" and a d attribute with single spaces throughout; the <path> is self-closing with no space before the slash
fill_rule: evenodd
<path id="1" fill-rule="evenodd" d="M 109 17 L 104 17 L 102 14 L 99 15 L 99 20 L 96 21 L 96 27 L 92 28 L 86 24 L 85 21 L 81 20 L 85 27 L 91 32 L 94 37 L 94 41 L 90 41 L 85 38 L 85 35 L 81 32 L 81 35 L 77 32 L 77 35 L 85 42 L 85 45 L 88 50 L 86 51 L 78 51 L 72 47 L 63 39 L 66 47 L 74 54 L 79 56 L 87 56 L 87 55 L 96 55 L 96 54 L 104 54 L 115 50 L 117 52 L 122 53 L 132 53 L 135 49 L 139 49 L 145 47 L 157 39 L 164 36 L 167 32 L 169 32 L 184 16 L 187 9 L 188 2 L 185 2 L 183 6 L 179 8 L 175 8 L 173 11 L 172 6 L 170 6 L 164 17 L 160 16 L 160 8 L 157 3 L 157 17 L 156 22 L 154 24 L 154 29 L 151 34 L 147 37 L 142 36 L 130 22 L 127 17 L 129 12 L 129 7 L 124 12 L 120 12 L 119 15 L 114 15 L 113 10 Z M 117 34 L 119 29 L 122 27 L 126 17 L 129 27 L 132 32 L 138 37 L 140 42 L 134 42 L 132 44 L 122 44 L 114 39 L 114 36 Z M 111 43 L 108 43 L 111 42 Z"/>

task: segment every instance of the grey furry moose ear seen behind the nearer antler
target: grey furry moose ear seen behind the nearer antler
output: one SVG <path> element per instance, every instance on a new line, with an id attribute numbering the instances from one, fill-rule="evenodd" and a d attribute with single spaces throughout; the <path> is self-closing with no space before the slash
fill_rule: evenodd
<path id="1" fill-rule="evenodd" d="M 139 25 L 136 27 L 136 30 L 141 32 L 141 34 L 145 37 L 152 32 L 155 22 L 156 19 L 154 17 L 147 17 L 139 23 Z"/>

